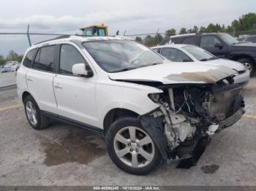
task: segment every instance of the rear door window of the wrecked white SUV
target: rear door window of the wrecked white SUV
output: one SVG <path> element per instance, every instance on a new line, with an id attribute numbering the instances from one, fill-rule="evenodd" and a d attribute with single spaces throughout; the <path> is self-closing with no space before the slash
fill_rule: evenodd
<path id="1" fill-rule="evenodd" d="M 41 47 L 34 60 L 34 69 L 53 71 L 55 45 Z"/>

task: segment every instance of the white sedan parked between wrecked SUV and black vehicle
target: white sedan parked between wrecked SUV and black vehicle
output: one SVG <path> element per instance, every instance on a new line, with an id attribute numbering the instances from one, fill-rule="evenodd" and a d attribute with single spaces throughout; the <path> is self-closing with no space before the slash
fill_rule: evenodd
<path id="1" fill-rule="evenodd" d="M 249 71 L 242 64 L 236 61 L 218 58 L 210 52 L 200 47 L 189 44 L 167 44 L 158 47 L 152 47 L 153 50 L 163 55 L 173 62 L 203 62 L 214 64 L 217 66 L 227 66 L 230 69 L 238 71 L 238 75 L 234 77 L 235 83 L 246 85 L 249 80 Z"/>

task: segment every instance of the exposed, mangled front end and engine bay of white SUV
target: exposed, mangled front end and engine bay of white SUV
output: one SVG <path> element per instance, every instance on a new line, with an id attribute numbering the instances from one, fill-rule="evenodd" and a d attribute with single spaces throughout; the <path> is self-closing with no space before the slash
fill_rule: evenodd
<path id="1" fill-rule="evenodd" d="M 189 157 L 198 141 L 233 125 L 245 112 L 239 85 L 219 82 L 162 86 L 161 89 L 163 93 L 148 95 L 159 104 L 159 109 L 140 120 L 148 130 L 158 127 L 151 135 L 160 144 L 159 149 L 165 148 L 161 152 L 167 153 L 163 157 L 168 159 Z"/>

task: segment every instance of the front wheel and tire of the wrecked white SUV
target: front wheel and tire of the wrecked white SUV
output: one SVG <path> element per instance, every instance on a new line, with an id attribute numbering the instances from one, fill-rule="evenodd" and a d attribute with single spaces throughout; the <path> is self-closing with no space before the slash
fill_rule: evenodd
<path id="1" fill-rule="evenodd" d="M 148 174 L 163 162 L 154 140 L 135 117 L 113 122 L 107 132 L 106 146 L 113 163 L 128 174 Z"/>

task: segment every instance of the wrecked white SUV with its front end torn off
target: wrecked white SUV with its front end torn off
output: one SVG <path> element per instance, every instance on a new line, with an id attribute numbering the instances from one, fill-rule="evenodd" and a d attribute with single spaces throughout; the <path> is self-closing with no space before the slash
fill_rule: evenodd
<path id="1" fill-rule="evenodd" d="M 143 175 L 190 157 L 199 141 L 241 118 L 246 82 L 233 83 L 236 75 L 170 63 L 124 37 L 64 36 L 29 48 L 17 85 L 33 128 L 55 119 L 101 133 L 113 163 Z"/>

